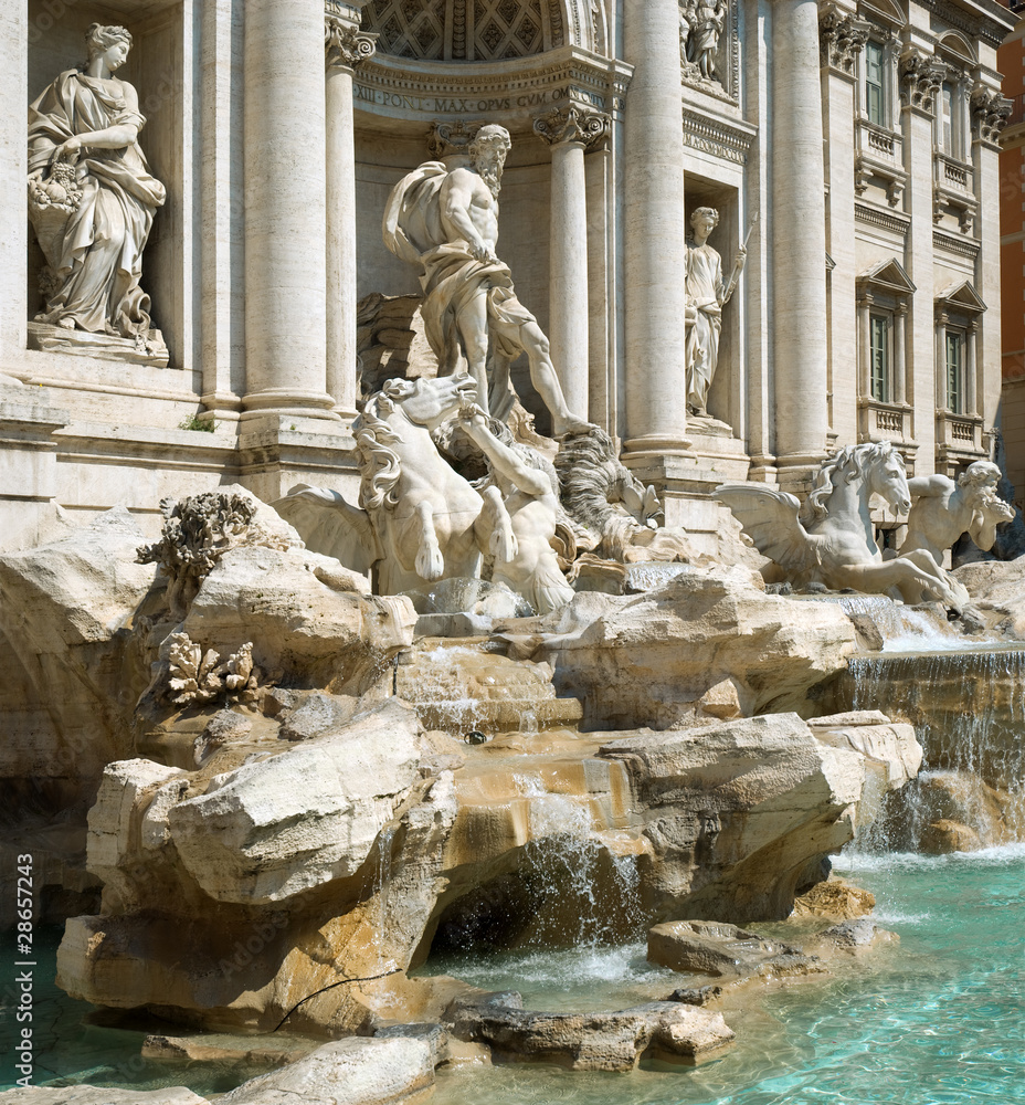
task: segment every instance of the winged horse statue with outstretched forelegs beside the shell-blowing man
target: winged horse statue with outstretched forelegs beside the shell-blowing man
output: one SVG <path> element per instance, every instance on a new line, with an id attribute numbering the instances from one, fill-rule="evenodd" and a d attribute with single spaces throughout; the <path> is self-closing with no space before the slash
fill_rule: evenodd
<path id="1" fill-rule="evenodd" d="M 908 603 L 938 601 L 958 613 L 969 601 L 964 588 L 923 549 L 883 559 L 869 514 L 871 496 L 879 495 L 900 514 L 911 508 L 904 457 L 888 441 L 846 445 L 823 461 L 804 524 L 800 502 L 786 492 L 721 484 L 716 493 L 759 552 L 800 586 L 853 588 Z"/>

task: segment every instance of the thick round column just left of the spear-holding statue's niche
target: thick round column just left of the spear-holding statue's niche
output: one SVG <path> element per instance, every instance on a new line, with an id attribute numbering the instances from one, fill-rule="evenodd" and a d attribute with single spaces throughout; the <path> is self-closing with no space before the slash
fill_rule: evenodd
<path id="1" fill-rule="evenodd" d="M 644 0 L 623 18 L 634 66 L 624 126 L 626 449 L 664 455 L 689 448 L 679 7 Z"/>

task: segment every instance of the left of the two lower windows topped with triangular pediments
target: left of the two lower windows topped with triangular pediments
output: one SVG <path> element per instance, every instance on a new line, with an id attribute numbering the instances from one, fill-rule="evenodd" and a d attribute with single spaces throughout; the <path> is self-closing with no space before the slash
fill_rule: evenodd
<path id="1" fill-rule="evenodd" d="M 916 287 L 896 257 L 863 272 L 855 282 L 858 334 L 858 439 L 911 440 L 908 349 Z M 883 337 L 879 343 L 877 337 Z M 877 365 L 877 352 L 883 364 Z M 879 371 L 881 370 L 881 371 Z"/>

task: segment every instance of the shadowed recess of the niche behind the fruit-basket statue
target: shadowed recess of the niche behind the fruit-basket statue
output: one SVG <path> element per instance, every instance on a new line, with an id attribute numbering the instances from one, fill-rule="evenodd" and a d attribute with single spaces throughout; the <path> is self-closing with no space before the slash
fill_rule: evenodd
<path id="1" fill-rule="evenodd" d="M 163 333 L 171 368 L 192 368 L 190 267 L 193 228 L 189 218 L 193 146 L 192 24 L 182 0 L 112 0 L 107 3 L 29 0 L 29 83 L 25 104 L 56 76 L 86 60 L 91 23 L 120 24 L 131 32 L 131 51 L 118 76 L 135 85 L 146 126 L 139 144 L 150 171 L 167 188 L 142 254 L 142 288 L 151 299 L 154 326 Z M 194 59 L 198 62 L 198 57 Z M 29 230 L 27 302 L 29 318 L 40 309 L 42 250 Z"/>

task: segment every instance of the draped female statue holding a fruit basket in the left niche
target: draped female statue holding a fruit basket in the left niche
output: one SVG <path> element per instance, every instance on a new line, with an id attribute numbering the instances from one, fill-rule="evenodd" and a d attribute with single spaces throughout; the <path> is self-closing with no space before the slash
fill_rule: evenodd
<path id="1" fill-rule="evenodd" d="M 131 35 L 93 23 L 85 41 L 85 66 L 62 73 L 29 108 L 29 217 L 49 266 L 35 322 L 134 338 L 138 351 L 159 355 L 139 277 L 166 192 L 139 148 L 138 94 L 114 75 Z"/>

